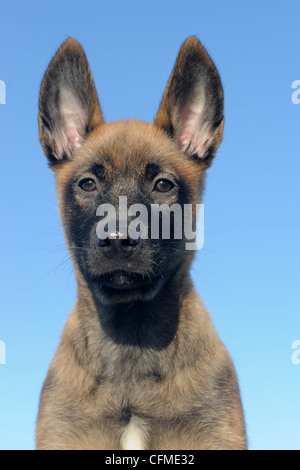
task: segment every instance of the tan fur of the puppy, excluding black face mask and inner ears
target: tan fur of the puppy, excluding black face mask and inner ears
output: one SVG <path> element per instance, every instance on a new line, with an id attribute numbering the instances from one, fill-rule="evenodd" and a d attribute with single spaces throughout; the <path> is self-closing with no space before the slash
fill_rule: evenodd
<path id="1" fill-rule="evenodd" d="M 184 47 L 195 47 L 195 41 Z M 69 46 L 82 54 L 77 43 Z M 59 61 L 59 55 L 53 61 Z M 206 53 L 205 61 L 211 67 Z M 177 68 L 181 56 L 178 64 Z M 52 66 L 53 62 L 50 72 Z M 89 70 L 86 73 L 91 82 Z M 48 78 L 49 72 L 44 80 Z M 66 210 L 69 181 L 83 166 L 102 162 L 106 155 L 110 158 L 106 167 L 109 177 L 114 178 L 116 168 L 120 173 L 130 168 L 136 179 L 150 157 L 157 155 L 186 182 L 189 202 L 201 201 L 208 160 L 187 158 L 166 132 L 166 127 L 171 129 L 168 90 L 172 83 L 171 76 L 154 125 L 133 120 L 104 124 L 100 108 L 93 108 L 90 133 L 81 148 L 68 161 L 58 159 L 53 166 L 67 234 L 72 217 Z M 46 85 L 42 85 L 42 96 Z M 96 96 L 93 86 L 92 90 Z M 51 138 L 41 122 L 40 118 L 41 142 L 49 156 Z M 223 120 L 213 137 L 215 150 L 222 131 Z M 77 202 L 81 210 L 88 209 L 89 201 L 79 198 Z M 189 270 L 193 254 L 186 252 L 164 287 L 164 295 L 171 298 L 169 305 L 174 297 L 180 306 L 172 340 L 163 348 L 139 347 L 121 344 L 105 330 L 101 322 L 105 307 L 96 304 L 76 261 L 72 239 L 68 235 L 66 239 L 74 261 L 78 298 L 43 386 L 37 449 L 124 450 L 134 445 L 151 450 L 245 449 L 236 373 L 192 286 Z M 171 307 L 161 308 L 162 314 L 172 314 Z"/>

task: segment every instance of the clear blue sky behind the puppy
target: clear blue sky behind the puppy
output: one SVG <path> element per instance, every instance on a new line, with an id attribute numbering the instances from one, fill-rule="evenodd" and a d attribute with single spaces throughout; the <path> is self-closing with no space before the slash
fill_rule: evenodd
<path id="1" fill-rule="evenodd" d="M 193 278 L 240 379 L 251 449 L 300 449 L 300 4 L 254 0 L 2 3 L 0 449 L 34 448 L 39 393 L 75 300 L 54 178 L 38 142 L 43 73 L 72 36 L 106 120 L 152 121 L 184 39 L 225 90 Z M 1 358 L 0 358 L 1 363 Z"/>

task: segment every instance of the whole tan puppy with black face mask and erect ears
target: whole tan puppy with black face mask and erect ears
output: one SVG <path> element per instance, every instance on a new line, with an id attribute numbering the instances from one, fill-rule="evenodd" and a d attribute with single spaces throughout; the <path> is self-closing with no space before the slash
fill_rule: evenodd
<path id="1" fill-rule="evenodd" d="M 246 448 L 236 373 L 191 282 L 194 251 L 174 236 L 175 217 L 169 239 L 124 233 L 119 216 L 106 238 L 97 232 L 99 206 L 118 207 L 120 196 L 131 206 L 196 207 L 223 123 L 220 77 L 195 37 L 179 51 L 153 124 L 104 122 L 74 39 L 50 63 L 40 141 L 78 299 L 43 386 L 38 449 Z"/>

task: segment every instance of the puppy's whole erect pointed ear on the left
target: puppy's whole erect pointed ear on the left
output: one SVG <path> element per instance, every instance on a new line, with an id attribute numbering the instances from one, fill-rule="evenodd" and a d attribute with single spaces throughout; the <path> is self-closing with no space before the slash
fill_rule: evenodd
<path id="1" fill-rule="evenodd" d="M 69 38 L 52 59 L 40 90 L 40 142 L 50 164 L 71 159 L 87 135 L 103 123 L 85 53 Z"/>

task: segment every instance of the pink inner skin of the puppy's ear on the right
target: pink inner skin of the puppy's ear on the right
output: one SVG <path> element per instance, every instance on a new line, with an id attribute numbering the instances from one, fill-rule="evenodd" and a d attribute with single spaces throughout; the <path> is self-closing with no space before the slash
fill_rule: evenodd
<path id="1" fill-rule="evenodd" d="M 175 116 L 175 140 L 188 156 L 203 158 L 213 142 L 211 126 L 206 118 L 205 100 L 198 99 L 185 105 Z"/>

